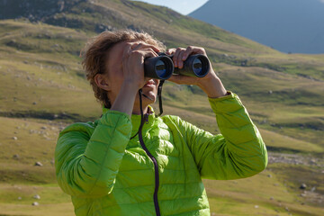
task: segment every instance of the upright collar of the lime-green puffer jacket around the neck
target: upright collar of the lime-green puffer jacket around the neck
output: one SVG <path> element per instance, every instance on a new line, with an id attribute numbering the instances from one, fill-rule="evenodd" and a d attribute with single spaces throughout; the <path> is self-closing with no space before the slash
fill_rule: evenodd
<path id="1" fill-rule="evenodd" d="M 142 131 L 146 131 L 148 130 L 149 128 L 151 128 L 151 126 L 153 125 L 155 119 L 157 118 L 156 117 L 156 114 L 154 112 L 154 109 L 152 106 L 148 105 L 148 109 L 150 110 L 149 113 L 147 113 L 148 115 L 148 121 L 144 122 L 144 125 L 143 125 L 143 129 Z M 108 112 L 109 111 L 109 108 L 106 108 L 104 107 L 103 105 L 103 114 L 105 112 Z M 140 114 L 137 115 L 137 114 L 131 114 L 131 124 L 132 124 L 132 132 L 131 132 L 131 136 L 135 135 L 137 133 L 137 131 L 139 130 L 139 125 L 140 125 Z"/>

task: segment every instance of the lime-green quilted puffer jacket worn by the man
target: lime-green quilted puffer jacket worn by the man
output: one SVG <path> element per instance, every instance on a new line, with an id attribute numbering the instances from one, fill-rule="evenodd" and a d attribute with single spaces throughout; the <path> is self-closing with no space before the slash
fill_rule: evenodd
<path id="1" fill-rule="evenodd" d="M 265 143 L 238 95 L 209 102 L 221 132 L 215 136 L 177 116 L 153 113 L 142 129 L 145 149 L 139 135 L 130 139 L 140 115 L 130 119 L 104 107 L 99 120 L 62 130 L 56 175 L 76 215 L 207 216 L 202 178 L 237 179 L 264 170 Z"/>

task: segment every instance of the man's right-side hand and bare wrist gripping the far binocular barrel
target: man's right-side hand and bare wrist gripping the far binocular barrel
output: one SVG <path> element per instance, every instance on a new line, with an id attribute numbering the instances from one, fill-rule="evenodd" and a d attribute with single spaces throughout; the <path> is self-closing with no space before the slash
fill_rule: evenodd
<path id="1" fill-rule="evenodd" d="M 184 48 L 173 48 L 166 51 L 167 55 L 174 55 L 173 61 L 175 67 L 183 68 L 184 61 L 190 55 L 202 54 L 207 57 L 205 49 L 201 47 L 189 46 L 187 49 Z M 207 57 L 208 58 L 208 57 Z M 202 90 L 211 98 L 225 96 L 227 94 L 226 89 L 221 84 L 220 78 L 216 76 L 210 65 L 210 72 L 204 77 L 192 77 L 192 76 L 181 76 L 173 75 L 168 81 L 174 82 L 180 85 L 198 85 Z"/>

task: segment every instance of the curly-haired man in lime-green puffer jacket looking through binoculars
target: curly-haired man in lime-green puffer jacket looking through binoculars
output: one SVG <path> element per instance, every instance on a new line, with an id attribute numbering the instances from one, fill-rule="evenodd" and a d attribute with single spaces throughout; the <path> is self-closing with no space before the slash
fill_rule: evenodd
<path id="1" fill-rule="evenodd" d="M 155 115 L 149 104 L 159 80 L 144 76 L 143 62 L 164 51 L 148 33 L 130 30 L 105 31 L 86 46 L 83 66 L 103 115 L 67 126 L 55 152 L 58 184 L 71 195 L 76 215 L 210 215 L 202 178 L 244 178 L 266 168 L 257 127 L 212 67 L 202 78 L 168 80 L 202 88 L 221 134 Z M 190 55 L 207 56 L 193 46 L 166 54 L 179 68 Z"/>

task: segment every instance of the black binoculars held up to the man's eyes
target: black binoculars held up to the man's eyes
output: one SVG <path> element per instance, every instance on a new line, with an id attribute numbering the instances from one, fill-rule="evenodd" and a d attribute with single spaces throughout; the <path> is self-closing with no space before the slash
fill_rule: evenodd
<path id="1" fill-rule="evenodd" d="M 144 76 L 166 80 L 172 74 L 203 77 L 210 71 L 209 59 L 201 54 L 189 56 L 181 69 L 175 68 L 173 55 L 166 55 L 164 52 L 159 52 L 157 55 L 157 57 L 144 59 Z"/>

